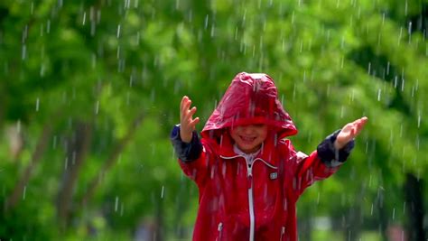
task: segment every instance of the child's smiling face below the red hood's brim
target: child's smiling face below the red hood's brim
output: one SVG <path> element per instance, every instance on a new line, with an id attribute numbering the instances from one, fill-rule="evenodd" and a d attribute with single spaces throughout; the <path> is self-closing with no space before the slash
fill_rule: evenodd
<path id="1" fill-rule="evenodd" d="M 230 136 L 244 153 L 255 153 L 267 136 L 267 125 L 238 125 L 230 130 Z"/>

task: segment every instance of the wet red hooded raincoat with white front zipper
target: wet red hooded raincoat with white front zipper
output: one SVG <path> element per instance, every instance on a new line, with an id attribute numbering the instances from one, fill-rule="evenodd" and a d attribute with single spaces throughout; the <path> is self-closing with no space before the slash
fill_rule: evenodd
<path id="1" fill-rule="evenodd" d="M 269 126 L 269 134 L 250 164 L 234 152 L 228 129 L 259 123 Z M 316 151 L 294 151 L 284 137 L 296 133 L 273 79 L 237 74 L 201 132 L 200 157 L 180 161 L 200 193 L 193 240 L 297 240 L 297 199 L 337 168 L 321 162 Z"/>

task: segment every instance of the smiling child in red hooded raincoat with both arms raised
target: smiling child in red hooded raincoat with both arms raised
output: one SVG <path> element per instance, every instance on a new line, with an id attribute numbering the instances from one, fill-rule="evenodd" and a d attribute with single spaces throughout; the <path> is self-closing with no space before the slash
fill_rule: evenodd
<path id="1" fill-rule="evenodd" d="M 266 74 L 237 74 L 201 132 L 196 107 L 182 97 L 172 145 L 196 182 L 200 207 L 193 240 L 297 240 L 296 201 L 348 158 L 368 118 L 330 134 L 309 156 L 287 136 L 292 119 Z"/>

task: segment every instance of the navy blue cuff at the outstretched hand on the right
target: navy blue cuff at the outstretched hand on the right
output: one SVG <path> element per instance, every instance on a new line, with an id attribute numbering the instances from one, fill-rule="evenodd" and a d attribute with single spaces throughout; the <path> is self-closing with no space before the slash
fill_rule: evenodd
<path id="1" fill-rule="evenodd" d="M 340 166 L 345 162 L 350 154 L 350 151 L 354 148 L 355 142 L 351 140 L 348 144 L 336 150 L 334 147 L 334 142 L 338 137 L 340 130 L 335 131 L 333 134 L 330 134 L 325 138 L 325 140 L 318 145 L 317 152 L 318 156 L 321 159 L 321 162 L 326 164 L 329 167 Z"/>

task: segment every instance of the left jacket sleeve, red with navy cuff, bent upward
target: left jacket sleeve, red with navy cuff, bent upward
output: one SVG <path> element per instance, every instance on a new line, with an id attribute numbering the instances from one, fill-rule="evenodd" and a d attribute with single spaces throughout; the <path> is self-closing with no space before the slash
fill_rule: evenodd
<path id="1" fill-rule="evenodd" d="M 209 171 L 209 154 L 207 153 L 209 148 L 207 144 L 204 144 L 196 131 L 192 134 L 191 143 L 187 144 L 181 141 L 180 125 L 174 125 L 170 139 L 181 170 L 200 185 Z"/>

